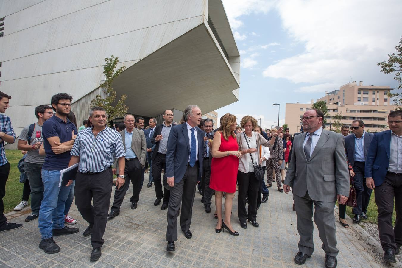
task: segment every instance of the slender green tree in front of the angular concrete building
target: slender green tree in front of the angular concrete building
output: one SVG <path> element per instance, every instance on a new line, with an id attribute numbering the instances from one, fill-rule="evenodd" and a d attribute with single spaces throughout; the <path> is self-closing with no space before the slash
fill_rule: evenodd
<path id="1" fill-rule="evenodd" d="M 117 68 L 117 63 L 119 63 L 119 58 L 111 55 L 110 58 L 105 58 L 105 65 L 103 66 L 103 74 L 105 74 L 105 83 L 100 86 L 103 88 L 103 92 L 106 94 L 106 98 L 100 95 L 96 95 L 93 100 L 91 100 L 91 106 L 100 106 L 106 110 L 108 120 L 113 121 L 116 117 L 121 117 L 127 113 L 128 107 L 124 104 L 127 95 L 123 94 L 120 96 L 120 100 L 117 101 L 116 105 L 113 106 L 116 100 L 116 91 L 112 88 L 113 80 L 124 71 L 125 66 Z"/>

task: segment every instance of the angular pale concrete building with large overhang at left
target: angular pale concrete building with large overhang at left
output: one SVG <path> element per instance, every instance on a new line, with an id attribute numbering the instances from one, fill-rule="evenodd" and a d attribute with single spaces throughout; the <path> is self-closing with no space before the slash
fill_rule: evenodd
<path id="1" fill-rule="evenodd" d="M 86 119 L 111 55 L 126 67 L 117 96 L 146 122 L 238 100 L 240 55 L 221 0 L 2 0 L 0 18 L 0 91 L 12 96 L 17 136 L 57 92 L 73 96 L 78 124 Z"/>

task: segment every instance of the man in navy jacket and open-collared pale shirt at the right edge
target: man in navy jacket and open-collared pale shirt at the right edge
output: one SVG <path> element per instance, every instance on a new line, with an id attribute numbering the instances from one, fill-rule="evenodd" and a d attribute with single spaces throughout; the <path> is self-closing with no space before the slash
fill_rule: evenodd
<path id="1" fill-rule="evenodd" d="M 390 130 L 375 133 L 366 158 L 366 185 L 375 188 L 378 231 L 386 262 L 396 262 L 402 245 L 402 110 L 388 115 Z M 392 227 L 392 213 L 396 221 Z"/>

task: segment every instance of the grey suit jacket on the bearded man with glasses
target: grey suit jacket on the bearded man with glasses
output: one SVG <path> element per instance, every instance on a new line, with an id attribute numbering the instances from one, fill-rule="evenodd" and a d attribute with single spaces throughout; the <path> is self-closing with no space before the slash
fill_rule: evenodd
<path id="1" fill-rule="evenodd" d="M 306 135 L 307 132 L 293 139 L 285 184 L 292 187 L 293 194 L 303 197 L 308 192 L 315 201 L 334 202 L 337 194 L 349 196 L 343 135 L 323 129 L 308 161 L 303 150 Z"/>

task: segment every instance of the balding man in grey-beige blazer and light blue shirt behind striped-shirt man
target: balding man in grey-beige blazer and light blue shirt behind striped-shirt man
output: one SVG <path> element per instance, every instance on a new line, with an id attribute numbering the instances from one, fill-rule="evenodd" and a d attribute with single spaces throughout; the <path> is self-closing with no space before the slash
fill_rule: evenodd
<path id="1" fill-rule="evenodd" d="M 139 190 L 141 188 L 141 171 L 145 166 L 145 154 L 146 154 L 146 140 L 144 131 L 134 128 L 134 116 L 124 116 L 125 129 L 120 131 L 121 138 L 123 139 L 123 145 L 125 148 L 125 168 L 124 175 L 119 176 L 124 178 L 125 183 L 120 189 L 115 190 L 115 200 L 111 212 L 108 215 L 109 219 L 112 219 L 120 214 L 120 206 L 123 203 L 124 195 L 128 190 L 128 186 L 133 184 L 133 195 L 130 198 L 131 209 L 137 208 L 137 202 L 139 200 Z M 115 161 L 114 167 L 118 168 Z M 116 173 L 116 168 L 113 168 L 113 173 Z"/>

